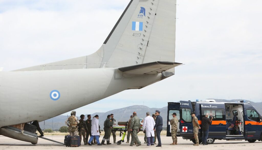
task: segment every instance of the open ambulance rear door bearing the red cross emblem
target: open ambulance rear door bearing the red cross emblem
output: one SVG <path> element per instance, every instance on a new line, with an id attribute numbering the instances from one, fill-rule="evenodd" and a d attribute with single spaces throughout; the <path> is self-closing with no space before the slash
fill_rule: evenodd
<path id="1" fill-rule="evenodd" d="M 180 101 L 180 136 L 192 137 L 192 103 L 191 101 Z"/>

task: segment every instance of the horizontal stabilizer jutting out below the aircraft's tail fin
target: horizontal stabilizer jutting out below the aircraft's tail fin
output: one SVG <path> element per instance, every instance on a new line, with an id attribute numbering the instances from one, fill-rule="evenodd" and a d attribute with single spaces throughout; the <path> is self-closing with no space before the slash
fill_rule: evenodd
<path id="1" fill-rule="evenodd" d="M 174 68 L 182 63 L 168 62 L 168 61 L 157 61 L 144 63 L 140 65 L 128 66 L 118 68 L 120 71 L 128 74 L 156 74 L 162 73 L 168 69 Z"/>

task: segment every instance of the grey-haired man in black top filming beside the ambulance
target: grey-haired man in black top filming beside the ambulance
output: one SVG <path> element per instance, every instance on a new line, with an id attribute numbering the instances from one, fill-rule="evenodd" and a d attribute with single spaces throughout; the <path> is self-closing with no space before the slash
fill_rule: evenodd
<path id="1" fill-rule="evenodd" d="M 202 118 L 202 143 L 203 145 L 208 145 L 206 140 L 208 139 L 208 129 L 209 125 L 212 124 L 213 116 L 209 116 L 208 113 L 205 113 L 205 116 Z"/>

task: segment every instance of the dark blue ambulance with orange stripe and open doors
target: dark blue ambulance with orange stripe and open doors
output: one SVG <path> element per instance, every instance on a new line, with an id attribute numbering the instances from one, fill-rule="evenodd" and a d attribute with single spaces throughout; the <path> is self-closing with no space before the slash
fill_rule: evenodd
<path id="1" fill-rule="evenodd" d="M 252 143 L 262 139 L 262 116 L 249 102 L 245 103 L 245 100 L 236 103 L 221 103 L 215 100 L 169 102 L 167 136 L 171 136 L 170 120 L 173 117 L 172 114 L 176 113 L 179 120 L 177 136 L 195 143 L 192 112 L 195 112 L 200 127 L 205 113 L 213 116 L 212 124 L 209 126 L 207 144 L 212 144 L 215 140 L 245 140 Z M 201 143 L 201 129 L 198 131 L 198 138 Z"/>

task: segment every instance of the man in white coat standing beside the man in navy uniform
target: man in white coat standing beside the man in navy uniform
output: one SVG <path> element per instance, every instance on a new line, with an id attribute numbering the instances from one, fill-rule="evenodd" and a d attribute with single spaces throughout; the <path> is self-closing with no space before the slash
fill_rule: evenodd
<path id="1" fill-rule="evenodd" d="M 155 120 L 153 117 L 150 116 L 149 112 L 146 112 L 146 117 L 144 119 L 143 123 L 143 131 L 146 131 L 146 138 L 147 138 L 147 146 L 154 145 L 154 126 L 155 126 Z"/>

